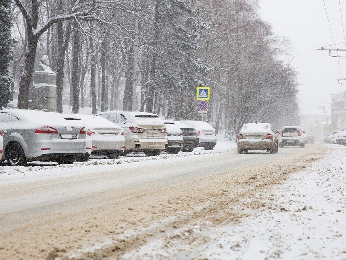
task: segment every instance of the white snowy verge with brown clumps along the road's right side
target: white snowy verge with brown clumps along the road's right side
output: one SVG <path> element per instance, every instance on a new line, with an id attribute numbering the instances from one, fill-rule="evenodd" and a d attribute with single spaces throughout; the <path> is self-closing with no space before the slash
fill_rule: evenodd
<path id="1" fill-rule="evenodd" d="M 275 190 L 257 194 L 255 199 L 263 201 L 259 209 L 233 208 L 245 215 L 240 222 L 195 223 L 171 234 L 168 247 L 154 240 L 124 258 L 346 259 L 345 189 L 346 149 L 333 146 Z M 175 236 L 199 238 L 185 243 Z"/>

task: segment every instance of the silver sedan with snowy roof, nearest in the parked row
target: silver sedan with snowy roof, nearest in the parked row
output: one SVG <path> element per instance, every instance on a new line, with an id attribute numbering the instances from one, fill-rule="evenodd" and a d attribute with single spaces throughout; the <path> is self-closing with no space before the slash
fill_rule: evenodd
<path id="1" fill-rule="evenodd" d="M 82 123 L 67 121 L 56 113 L 0 110 L 4 157 L 9 165 L 30 161 L 71 164 L 85 154 L 86 130 Z"/>

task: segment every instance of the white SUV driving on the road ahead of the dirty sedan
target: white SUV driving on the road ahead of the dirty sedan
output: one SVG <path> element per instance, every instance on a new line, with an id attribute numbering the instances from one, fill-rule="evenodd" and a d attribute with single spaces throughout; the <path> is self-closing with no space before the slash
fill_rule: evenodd
<path id="1" fill-rule="evenodd" d="M 305 146 L 304 134 L 298 125 L 286 125 L 280 131 L 279 147 L 289 146 Z"/>

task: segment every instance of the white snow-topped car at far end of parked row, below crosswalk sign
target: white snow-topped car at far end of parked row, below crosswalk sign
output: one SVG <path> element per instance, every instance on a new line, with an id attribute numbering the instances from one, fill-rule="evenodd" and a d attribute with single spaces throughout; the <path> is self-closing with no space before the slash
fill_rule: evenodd
<path id="1" fill-rule="evenodd" d="M 216 132 L 210 124 L 195 120 L 182 120 L 179 122 L 190 125 L 190 127 L 193 127 L 198 131 L 199 147 L 204 147 L 206 150 L 214 149 L 216 146 Z"/>

